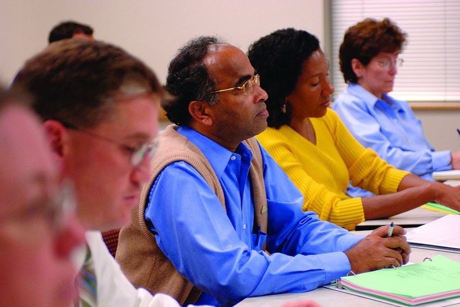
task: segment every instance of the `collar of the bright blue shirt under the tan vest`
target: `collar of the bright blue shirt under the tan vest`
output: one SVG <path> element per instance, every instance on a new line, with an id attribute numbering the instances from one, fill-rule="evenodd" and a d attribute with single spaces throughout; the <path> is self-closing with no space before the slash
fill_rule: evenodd
<path id="1" fill-rule="evenodd" d="M 177 128 L 177 132 L 185 136 L 190 142 L 198 147 L 198 149 L 200 149 L 200 151 L 205 155 L 206 159 L 208 159 L 209 163 L 213 167 L 218 178 L 220 178 L 224 173 L 224 170 L 227 167 L 227 164 L 232 155 L 248 155 L 248 157 L 250 157 L 249 159 L 252 158 L 252 153 L 243 143 L 238 146 L 236 153 L 233 153 L 227 148 L 219 145 L 210 138 L 202 135 L 190 127 L 179 126 Z"/>

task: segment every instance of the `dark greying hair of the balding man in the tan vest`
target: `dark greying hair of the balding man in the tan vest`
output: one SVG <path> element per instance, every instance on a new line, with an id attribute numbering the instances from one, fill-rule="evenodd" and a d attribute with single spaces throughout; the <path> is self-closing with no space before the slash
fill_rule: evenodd
<path id="1" fill-rule="evenodd" d="M 216 90 L 216 83 L 210 77 L 203 58 L 211 52 L 211 46 L 226 44 L 214 36 L 201 36 L 190 40 L 179 49 L 172 59 L 166 77 L 166 90 L 174 96 L 162 103 L 166 116 L 176 125 L 188 126 L 191 115 L 188 104 L 193 100 L 214 104 L 218 95 L 210 94 Z"/>

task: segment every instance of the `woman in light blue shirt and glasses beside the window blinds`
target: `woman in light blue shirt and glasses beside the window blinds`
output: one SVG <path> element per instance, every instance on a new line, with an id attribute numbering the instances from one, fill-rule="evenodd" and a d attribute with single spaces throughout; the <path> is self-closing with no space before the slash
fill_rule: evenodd
<path id="1" fill-rule="evenodd" d="M 435 151 L 409 104 L 388 95 L 403 64 L 399 55 L 406 36 L 388 18 L 366 18 L 350 27 L 339 51 L 348 86 L 332 108 L 364 147 L 399 169 L 433 180 L 433 171 L 460 168 L 460 152 Z M 369 196 L 354 187 L 348 194 Z"/>

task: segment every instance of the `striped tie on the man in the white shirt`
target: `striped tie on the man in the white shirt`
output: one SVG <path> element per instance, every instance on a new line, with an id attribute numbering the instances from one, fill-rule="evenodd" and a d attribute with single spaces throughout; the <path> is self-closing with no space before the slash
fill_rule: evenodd
<path id="1" fill-rule="evenodd" d="M 80 291 L 80 307 L 97 306 L 97 282 L 94 272 L 94 261 L 91 251 L 88 248 L 85 263 L 78 274 L 78 284 Z"/>

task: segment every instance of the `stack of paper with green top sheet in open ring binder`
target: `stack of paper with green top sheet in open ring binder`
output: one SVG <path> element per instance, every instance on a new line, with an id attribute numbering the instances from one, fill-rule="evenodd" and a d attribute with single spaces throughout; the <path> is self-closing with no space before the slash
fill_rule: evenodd
<path id="1" fill-rule="evenodd" d="M 342 277 L 347 289 L 417 305 L 460 296 L 460 263 L 438 255 L 432 261 Z"/>

